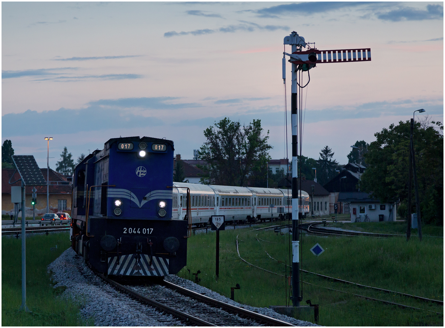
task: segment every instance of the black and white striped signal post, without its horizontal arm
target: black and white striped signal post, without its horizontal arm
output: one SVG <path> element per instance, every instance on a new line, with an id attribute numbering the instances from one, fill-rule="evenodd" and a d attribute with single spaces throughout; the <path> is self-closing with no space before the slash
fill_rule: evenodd
<path id="1" fill-rule="evenodd" d="M 297 32 L 292 32 L 290 36 L 284 38 L 285 45 L 291 45 L 292 52 L 295 53 L 306 47 L 304 38 L 298 36 Z M 302 296 L 300 296 L 299 279 L 299 221 L 298 221 L 298 185 L 297 185 L 297 71 L 298 65 L 292 63 L 292 94 L 291 94 L 291 117 L 292 117 L 292 305 L 299 306 Z M 283 80 L 286 80 L 286 58 L 283 53 Z"/>

